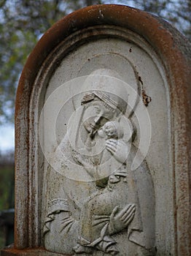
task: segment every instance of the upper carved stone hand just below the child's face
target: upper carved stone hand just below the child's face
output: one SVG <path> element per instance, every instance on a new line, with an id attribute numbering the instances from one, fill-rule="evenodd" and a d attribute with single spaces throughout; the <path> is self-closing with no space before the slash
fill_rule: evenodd
<path id="1" fill-rule="evenodd" d="M 123 140 L 106 140 L 106 149 L 114 155 L 114 158 L 122 164 L 128 158 L 129 148 Z"/>

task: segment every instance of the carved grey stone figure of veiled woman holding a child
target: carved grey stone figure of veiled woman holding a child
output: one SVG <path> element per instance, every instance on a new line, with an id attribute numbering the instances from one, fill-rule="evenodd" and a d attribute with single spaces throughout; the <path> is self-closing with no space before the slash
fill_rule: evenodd
<path id="1" fill-rule="evenodd" d="M 154 189 L 145 160 L 131 170 L 137 148 L 124 125 L 125 83 L 99 69 L 84 87 L 47 173 L 44 246 L 69 255 L 155 255 Z"/>

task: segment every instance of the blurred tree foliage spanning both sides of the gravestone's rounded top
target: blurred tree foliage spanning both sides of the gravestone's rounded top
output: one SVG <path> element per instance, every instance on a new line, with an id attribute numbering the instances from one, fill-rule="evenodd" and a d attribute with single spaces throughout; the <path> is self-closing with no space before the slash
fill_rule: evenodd
<path id="1" fill-rule="evenodd" d="M 106 0 L 0 0 L 0 124 L 13 121 L 20 73 L 44 31 L 69 12 L 104 3 Z M 191 38 L 190 0 L 116 0 L 110 3 L 126 4 L 159 15 Z"/>

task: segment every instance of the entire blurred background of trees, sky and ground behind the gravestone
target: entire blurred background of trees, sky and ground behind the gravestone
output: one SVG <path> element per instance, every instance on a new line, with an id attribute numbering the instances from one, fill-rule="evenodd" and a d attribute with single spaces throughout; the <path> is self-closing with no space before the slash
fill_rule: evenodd
<path id="1" fill-rule="evenodd" d="M 190 0 L 0 0 L 0 249 L 13 243 L 15 91 L 28 54 L 63 16 L 93 4 L 151 12 L 191 39 Z"/>

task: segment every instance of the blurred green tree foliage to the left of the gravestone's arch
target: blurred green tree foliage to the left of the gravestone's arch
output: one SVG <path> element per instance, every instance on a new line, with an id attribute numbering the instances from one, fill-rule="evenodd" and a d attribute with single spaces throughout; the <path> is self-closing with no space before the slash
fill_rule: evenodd
<path id="1" fill-rule="evenodd" d="M 90 4 L 100 1 L 0 1 L 0 124 L 13 121 L 17 82 L 38 39 L 64 15 Z"/>

